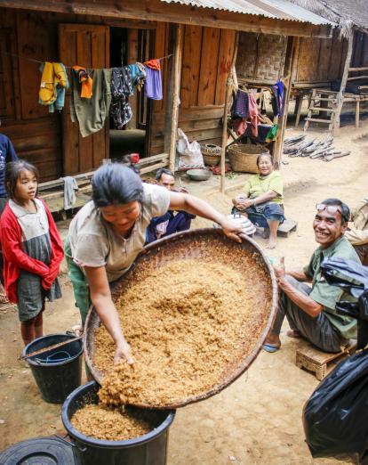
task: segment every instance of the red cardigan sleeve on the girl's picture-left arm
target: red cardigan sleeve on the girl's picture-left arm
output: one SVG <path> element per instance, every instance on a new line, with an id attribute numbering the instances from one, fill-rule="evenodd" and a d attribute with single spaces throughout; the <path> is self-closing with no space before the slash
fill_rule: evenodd
<path id="1" fill-rule="evenodd" d="M 1 221 L 1 246 L 5 259 L 29 273 L 46 276 L 49 267 L 40 260 L 29 257 L 21 249 L 20 225 L 9 212 L 12 213 L 9 208 L 4 210 Z"/>

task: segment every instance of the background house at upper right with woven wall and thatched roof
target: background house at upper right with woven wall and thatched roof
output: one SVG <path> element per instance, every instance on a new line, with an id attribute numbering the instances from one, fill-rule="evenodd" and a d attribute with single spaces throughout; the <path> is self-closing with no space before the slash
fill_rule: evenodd
<path id="1" fill-rule="evenodd" d="M 313 89 L 330 89 L 346 93 L 340 97 L 335 119 L 340 124 L 342 103 L 356 103 L 356 126 L 359 121 L 359 103 L 365 97 L 355 97 L 362 76 L 368 70 L 368 10 L 364 0 L 291 0 L 308 11 L 315 12 L 338 25 L 332 37 L 300 37 L 292 73 L 292 98 L 295 98 L 296 123 L 300 120 L 301 102 L 309 98 Z M 269 34 L 256 35 L 242 32 L 240 44 L 246 44 L 238 53 L 236 72 L 240 80 L 252 86 L 269 86 L 283 76 L 286 37 Z M 240 47 L 242 49 L 242 47 Z M 364 79 L 364 77 L 363 77 Z M 362 80 L 362 85 L 368 84 Z M 331 95 L 332 96 L 332 95 Z M 336 99 L 338 100 L 338 99 Z"/>

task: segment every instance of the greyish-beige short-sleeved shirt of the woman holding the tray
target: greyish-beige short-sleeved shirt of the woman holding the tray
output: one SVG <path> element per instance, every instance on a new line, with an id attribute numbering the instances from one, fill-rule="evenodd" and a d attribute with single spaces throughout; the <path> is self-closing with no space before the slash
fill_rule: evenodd
<path id="1" fill-rule="evenodd" d="M 72 257 L 79 266 L 106 266 L 108 281 L 120 278 L 143 249 L 146 229 L 154 216 L 162 216 L 169 209 L 170 192 L 164 187 L 143 184 L 140 217 L 131 235 L 118 236 L 100 214 L 100 209 L 88 202 L 73 218 L 69 227 Z"/>

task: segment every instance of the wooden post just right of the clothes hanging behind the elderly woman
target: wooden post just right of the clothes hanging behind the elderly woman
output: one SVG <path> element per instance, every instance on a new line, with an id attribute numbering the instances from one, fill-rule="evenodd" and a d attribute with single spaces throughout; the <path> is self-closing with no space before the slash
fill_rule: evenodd
<path id="1" fill-rule="evenodd" d="M 295 74 L 296 63 L 298 61 L 297 50 L 299 48 L 299 37 L 289 37 L 285 64 L 284 64 L 284 99 L 283 99 L 283 110 L 278 120 L 278 128 L 276 141 L 274 145 L 274 164 L 275 168 L 278 169 L 281 163 L 281 156 L 283 154 L 284 135 L 287 122 L 287 114 L 289 111 L 290 93 L 292 91 L 292 82 Z"/>

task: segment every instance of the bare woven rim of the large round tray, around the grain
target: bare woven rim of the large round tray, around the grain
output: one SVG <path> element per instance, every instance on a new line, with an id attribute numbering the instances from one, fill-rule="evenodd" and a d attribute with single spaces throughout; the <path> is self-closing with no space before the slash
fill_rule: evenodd
<path id="1" fill-rule="evenodd" d="M 242 272 L 244 271 L 244 273 L 248 272 L 250 258 L 258 265 L 260 275 L 252 276 L 252 280 L 255 281 L 258 279 L 264 281 L 265 299 L 267 299 L 268 305 L 265 305 L 262 311 L 254 311 L 252 341 L 256 342 L 252 344 L 252 347 L 249 347 L 249 338 L 247 338 L 247 334 L 244 333 L 244 341 L 237 353 L 234 354 L 234 359 L 224 367 L 218 384 L 207 392 L 202 392 L 197 396 L 180 399 L 174 404 L 135 404 L 138 407 L 175 409 L 219 393 L 221 389 L 227 387 L 248 369 L 259 354 L 262 344 L 268 335 L 268 331 L 276 315 L 277 306 L 277 284 L 273 268 L 269 264 L 268 258 L 255 241 L 252 241 L 250 238 L 244 238 L 242 243 L 239 244 L 236 241 L 228 239 L 220 229 L 196 229 L 180 232 L 172 234 L 163 240 L 153 242 L 147 248 L 143 249 L 129 272 L 125 273 L 120 280 L 117 280 L 111 285 L 112 298 L 113 300 L 119 298 L 124 292 L 127 283 L 134 280 L 134 277 L 137 276 L 137 273 L 139 274 L 140 270 L 143 268 L 146 270 L 148 266 L 156 268 L 167 264 L 173 259 L 204 258 L 208 257 L 209 253 L 212 258 L 213 254 L 219 254 L 219 259 L 223 262 L 225 257 L 228 265 L 232 265 L 231 258 L 228 259 L 228 257 L 236 253 L 237 266 L 239 266 L 239 257 L 240 263 L 242 259 L 244 260 L 244 268 L 242 268 Z M 221 285 L 221 283 L 219 283 L 219 285 Z M 222 283 L 222 285 L 225 290 L 226 283 Z M 234 311 L 236 312 L 236 308 Z M 99 384 L 102 384 L 104 373 L 99 371 L 93 364 L 93 354 L 95 350 L 94 334 L 100 324 L 100 317 L 92 306 L 85 322 L 84 355 L 93 378 L 96 379 Z"/>

